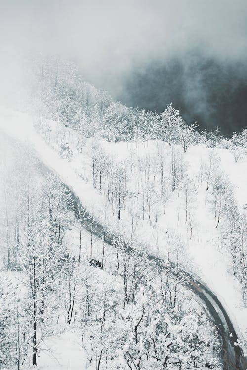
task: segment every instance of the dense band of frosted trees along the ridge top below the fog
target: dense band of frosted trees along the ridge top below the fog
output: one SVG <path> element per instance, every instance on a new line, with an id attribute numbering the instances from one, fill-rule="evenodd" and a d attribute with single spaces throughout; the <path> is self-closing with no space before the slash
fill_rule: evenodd
<path id="1" fill-rule="evenodd" d="M 232 139 L 214 132 L 201 131 L 196 123 L 187 124 L 179 110 L 168 104 L 164 111 L 154 113 L 127 107 L 115 102 L 103 90 L 85 82 L 77 67 L 58 58 L 37 59 L 31 88 L 30 104 L 43 119 L 53 119 L 78 131 L 85 137 L 98 136 L 108 141 L 161 139 L 189 145 L 204 143 L 212 147 L 246 147 L 246 129 L 233 133 Z"/>

